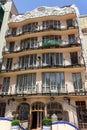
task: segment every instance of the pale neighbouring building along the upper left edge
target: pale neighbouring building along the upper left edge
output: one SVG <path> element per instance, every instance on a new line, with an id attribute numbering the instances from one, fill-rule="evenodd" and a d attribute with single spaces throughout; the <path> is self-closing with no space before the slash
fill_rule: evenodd
<path id="1" fill-rule="evenodd" d="M 11 0 L 0 0 L 0 63 L 2 62 L 2 51 L 6 43 L 5 35 L 8 29 L 8 21 L 12 14 L 18 14 L 14 3 Z"/>

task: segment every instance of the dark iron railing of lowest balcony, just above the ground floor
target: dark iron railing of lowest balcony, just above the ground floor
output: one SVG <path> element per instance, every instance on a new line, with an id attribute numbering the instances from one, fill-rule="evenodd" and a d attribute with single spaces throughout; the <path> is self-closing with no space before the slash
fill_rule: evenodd
<path id="1" fill-rule="evenodd" d="M 9 92 L 0 92 L 0 97 L 4 96 L 33 96 L 33 95 L 40 95 L 40 96 L 87 96 L 87 90 L 83 88 L 84 85 L 82 85 L 81 89 L 77 90 L 72 90 L 71 92 L 68 91 L 68 88 L 56 88 L 56 89 L 46 89 L 42 88 L 41 90 L 39 89 L 26 89 L 24 90 L 23 88 L 21 90 L 17 89 L 17 86 L 15 87 L 16 90 L 15 92 L 9 91 Z M 25 88 L 25 86 L 24 86 Z"/>

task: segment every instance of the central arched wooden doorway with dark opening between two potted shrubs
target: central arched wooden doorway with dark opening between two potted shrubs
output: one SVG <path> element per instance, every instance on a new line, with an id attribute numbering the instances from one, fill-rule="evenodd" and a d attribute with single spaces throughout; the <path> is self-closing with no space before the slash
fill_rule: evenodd
<path id="1" fill-rule="evenodd" d="M 31 129 L 37 129 L 42 127 L 43 116 L 44 116 L 44 104 L 42 102 L 33 103 Z"/>

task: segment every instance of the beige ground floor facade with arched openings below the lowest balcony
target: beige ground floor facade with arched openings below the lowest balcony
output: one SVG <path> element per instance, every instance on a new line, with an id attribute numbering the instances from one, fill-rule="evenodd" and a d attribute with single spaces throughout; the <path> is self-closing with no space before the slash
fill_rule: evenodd
<path id="1" fill-rule="evenodd" d="M 82 100 L 83 99 L 83 100 Z M 57 116 L 58 121 L 67 121 L 81 129 L 87 129 L 86 98 L 67 96 L 22 96 L 2 98 L 0 116 L 19 119 L 25 128 L 42 129 L 42 119 Z"/>

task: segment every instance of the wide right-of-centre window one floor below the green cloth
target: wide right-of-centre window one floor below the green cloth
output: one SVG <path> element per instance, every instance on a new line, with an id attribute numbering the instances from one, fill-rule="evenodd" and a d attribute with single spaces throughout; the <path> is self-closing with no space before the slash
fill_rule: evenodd
<path id="1" fill-rule="evenodd" d="M 43 65 L 63 65 L 62 53 L 47 53 L 42 55 Z"/>

